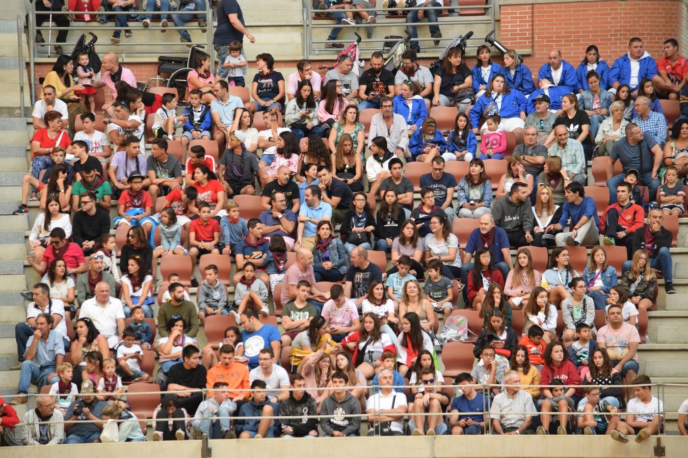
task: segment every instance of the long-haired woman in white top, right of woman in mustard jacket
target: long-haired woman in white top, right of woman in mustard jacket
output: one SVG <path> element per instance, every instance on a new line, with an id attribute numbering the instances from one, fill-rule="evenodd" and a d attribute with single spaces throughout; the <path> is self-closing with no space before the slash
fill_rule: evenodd
<path id="1" fill-rule="evenodd" d="M 365 314 L 363 326 L 342 339 L 340 345 L 353 352 L 352 359 L 356 362 L 356 369 L 360 370 L 367 380 L 383 369 L 380 360 L 383 352 L 395 352 L 394 343 L 380 330 L 380 319 L 373 312 Z"/>

